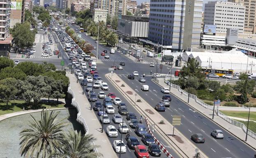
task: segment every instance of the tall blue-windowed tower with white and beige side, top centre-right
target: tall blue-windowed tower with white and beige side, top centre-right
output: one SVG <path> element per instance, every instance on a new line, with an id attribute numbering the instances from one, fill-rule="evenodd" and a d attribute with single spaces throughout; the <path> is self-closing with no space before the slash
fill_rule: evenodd
<path id="1" fill-rule="evenodd" d="M 151 0 L 148 39 L 172 50 L 199 47 L 202 9 L 203 0 Z"/>

